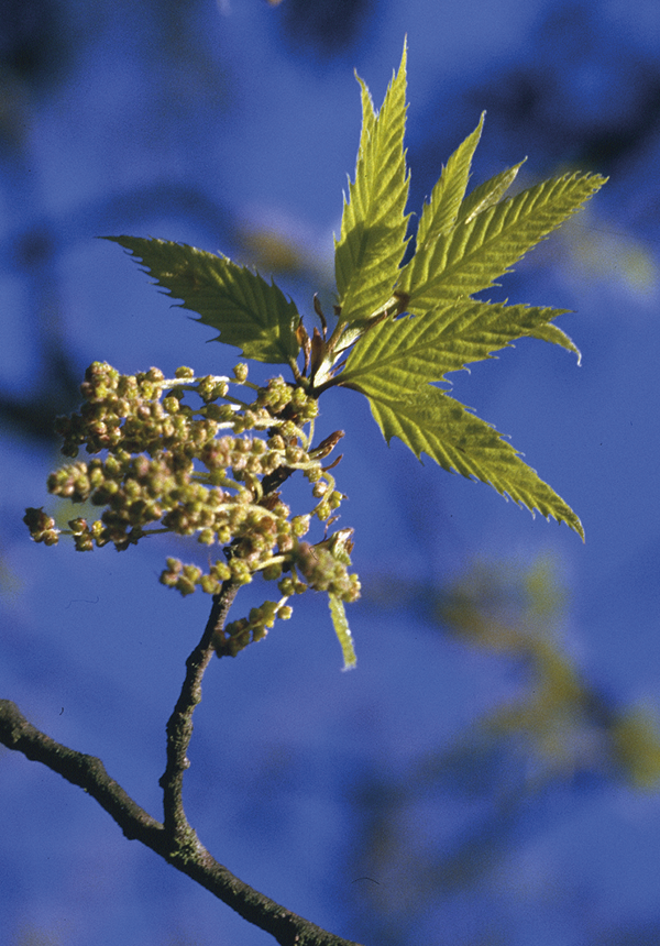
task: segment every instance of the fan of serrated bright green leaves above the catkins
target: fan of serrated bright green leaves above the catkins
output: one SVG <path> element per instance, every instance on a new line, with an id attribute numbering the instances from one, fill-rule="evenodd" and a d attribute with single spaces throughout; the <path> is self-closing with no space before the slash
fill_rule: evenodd
<path id="1" fill-rule="evenodd" d="M 364 81 L 358 81 L 362 132 L 334 245 L 331 330 L 316 297 L 320 330 L 317 326 L 309 334 L 294 302 L 274 283 L 227 256 L 155 239 L 108 239 L 134 254 L 199 321 L 218 330 L 218 341 L 242 349 L 250 359 L 288 364 L 294 383 L 315 397 L 332 386 L 360 392 L 388 442 L 398 437 L 416 457 L 426 453 L 448 471 L 488 483 L 532 513 L 565 521 L 584 538 L 575 513 L 508 440 L 452 397 L 447 375 L 525 337 L 559 344 L 580 358 L 553 323 L 565 310 L 475 296 L 496 285 L 605 178 L 565 174 L 506 196 L 520 163 L 468 194 L 482 116 L 424 205 L 415 253 L 404 263 L 410 240 L 406 48 L 380 111 Z"/>

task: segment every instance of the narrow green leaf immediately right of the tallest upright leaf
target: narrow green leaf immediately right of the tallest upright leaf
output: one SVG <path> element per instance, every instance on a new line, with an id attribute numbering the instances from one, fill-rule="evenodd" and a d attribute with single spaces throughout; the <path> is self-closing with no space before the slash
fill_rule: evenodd
<path id="1" fill-rule="evenodd" d="M 451 230 L 459 216 L 468 189 L 472 157 L 484 127 L 484 116 L 485 112 L 482 113 L 480 123 L 472 134 L 451 155 L 447 167 L 442 168 L 438 184 L 433 187 L 431 199 L 422 207 L 417 228 L 418 252 L 421 246 L 433 243 Z"/>

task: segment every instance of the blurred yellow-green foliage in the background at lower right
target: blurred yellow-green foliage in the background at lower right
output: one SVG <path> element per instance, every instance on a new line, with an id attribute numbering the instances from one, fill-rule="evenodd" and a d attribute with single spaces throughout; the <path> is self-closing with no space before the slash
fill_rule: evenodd
<path id="1" fill-rule="evenodd" d="M 549 558 L 526 570 L 477 563 L 440 595 L 438 616 L 449 634 L 524 668 L 522 693 L 480 726 L 521 746 L 535 781 L 596 770 L 650 788 L 660 781 L 652 717 L 614 707 L 585 680 L 562 640 L 564 602 Z"/>

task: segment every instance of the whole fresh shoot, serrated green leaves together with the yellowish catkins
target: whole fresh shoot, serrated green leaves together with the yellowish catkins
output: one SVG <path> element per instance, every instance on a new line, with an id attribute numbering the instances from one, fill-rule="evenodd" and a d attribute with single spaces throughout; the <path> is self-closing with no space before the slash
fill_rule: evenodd
<path id="1" fill-rule="evenodd" d="M 495 285 L 604 178 L 570 174 L 506 197 L 517 164 L 468 195 L 482 114 L 424 205 L 416 251 L 404 264 L 406 47 L 378 112 L 364 81 L 358 81 L 362 133 L 334 245 L 338 302 L 331 331 L 316 298 L 321 331 L 315 328 L 310 337 L 294 302 L 274 283 L 227 256 L 156 239 L 106 238 L 216 329 L 217 341 L 241 349 L 245 358 L 288 365 L 293 382 L 278 376 L 260 388 L 246 381 L 246 365 L 239 365 L 233 378 L 197 378 L 180 369 L 167 381 L 155 369 L 120 376 L 95 363 L 82 385 L 88 404 L 59 425 L 66 455 L 75 458 L 82 444 L 90 453 L 108 454 L 69 464 L 48 483 L 52 493 L 73 502 L 108 506 L 91 526 L 80 517 L 69 521 L 77 549 L 108 542 L 125 549 L 158 531 L 197 535 L 207 546 L 222 547 L 222 558 L 211 564 L 209 557 L 206 574 L 168 559 L 161 575 L 165 585 L 183 594 L 201 586 L 218 595 L 223 582 L 243 584 L 256 572 L 278 582 L 279 600 L 227 625 L 216 641 L 218 652 L 237 653 L 261 639 L 275 617 L 288 616 L 290 595 L 314 588 L 327 592 L 344 666 L 354 666 L 344 613 L 344 602 L 359 595 L 358 578 L 346 571 L 352 530 L 328 536 L 344 497 L 328 472 L 336 464 L 321 463 L 343 433 L 312 442 L 318 399 L 332 386 L 363 394 L 388 442 L 398 437 L 417 458 L 426 453 L 443 469 L 488 483 L 584 537 L 578 516 L 518 451 L 451 396 L 447 375 L 525 337 L 559 344 L 580 359 L 553 324 L 564 310 L 473 296 Z M 254 400 L 230 393 L 230 385 L 252 389 Z M 199 396 L 201 406 L 187 404 L 189 394 Z M 294 473 L 310 481 L 315 503 L 290 519 L 279 487 Z M 311 517 L 326 524 L 316 544 L 300 541 Z M 43 510 L 30 509 L 25 521 L 37 541 L 57 541 L 61 530 Z"/>

